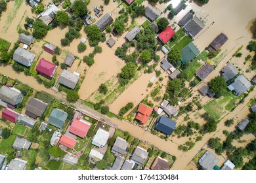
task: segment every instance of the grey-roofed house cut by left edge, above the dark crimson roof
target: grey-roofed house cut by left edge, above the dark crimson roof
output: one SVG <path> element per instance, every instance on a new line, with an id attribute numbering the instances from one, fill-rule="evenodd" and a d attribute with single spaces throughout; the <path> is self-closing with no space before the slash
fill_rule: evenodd
<path id="1" fill-rule="evenodd" d="M 16 88 L 2 86 L 0 89 L 0 99 L 5 103 L 15 106 L 22 101 L 22 93 Z"/>

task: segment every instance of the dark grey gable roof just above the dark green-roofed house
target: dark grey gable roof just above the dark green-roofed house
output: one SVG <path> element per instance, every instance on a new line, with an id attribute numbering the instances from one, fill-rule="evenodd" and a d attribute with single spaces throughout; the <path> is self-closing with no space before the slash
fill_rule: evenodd
<path id="1" fill-rule="evenodd" d="M 184 26 L 184 30 L 190 37 L 195 37 L 204 26 L 203 22 L 197 16 L 194 16 L 194 18 Z"/>

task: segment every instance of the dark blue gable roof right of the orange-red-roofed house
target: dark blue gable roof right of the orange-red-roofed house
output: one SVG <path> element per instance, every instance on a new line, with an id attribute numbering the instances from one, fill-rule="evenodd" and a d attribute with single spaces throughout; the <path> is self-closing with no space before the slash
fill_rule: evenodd
<path id="1" fill-rule="evenodd" d="M 165 116 L 160 116 L 158 120 L 156 120 L 155 128 L 167 135 L 171 135 L 175 129 L 175 126 L 175 121 L 166 118 Z"/>

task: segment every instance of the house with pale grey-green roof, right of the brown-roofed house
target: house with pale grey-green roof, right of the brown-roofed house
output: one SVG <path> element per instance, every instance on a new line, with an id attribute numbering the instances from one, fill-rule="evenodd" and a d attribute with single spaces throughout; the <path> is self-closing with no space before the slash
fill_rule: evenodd
<path id="1" fill-rule="evenodd" d="M 49 124 L 62 129 L 66 119 L 68 118 L 68 114 L 58 108 L 53 108 L 49 116 Z"/>

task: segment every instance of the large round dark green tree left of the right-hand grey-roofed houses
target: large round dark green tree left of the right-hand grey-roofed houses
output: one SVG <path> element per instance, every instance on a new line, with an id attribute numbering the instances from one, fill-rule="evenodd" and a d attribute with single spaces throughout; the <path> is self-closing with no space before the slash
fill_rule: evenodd
<path id="1" fill-rule="evenodd" d="M 227 84 L 223 76 L 217 76 L 208 82 L 208 86 L 211 89 L 211 92 L 221 96 L 226 91 Z"/>

